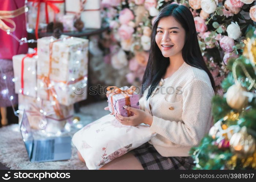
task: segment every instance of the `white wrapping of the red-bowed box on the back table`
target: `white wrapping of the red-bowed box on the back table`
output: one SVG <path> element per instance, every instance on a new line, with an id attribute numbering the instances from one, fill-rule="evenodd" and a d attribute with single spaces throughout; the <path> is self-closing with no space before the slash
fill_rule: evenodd
<path id="1" fill-rule="evenodd" d="M 51 0 L 54 1 L 54 0 Z M 59 0 L 55 0 L 56 2 Z M 49 17 L 49 23 L 54 21 L 54 16 L 56 18 L 56 20 L 58 20 L 61 16 L 64 15 L 64 9 L 65 9 L 65 5 L 64 3 L 52 3 L 54 4 L 57 8 L 59 8 L 60 12 L 56 13 L 54 15 L 54 11 L 53 9 L 50 7 L 50 5 L 48 5 L 48 17 Z M 32 28 L 35 29 L 35 25 L 37 22 L 37 3 L 34 4 L 33 6 L 33 2 L 27 2 L 27 7 L 28 7 L 28 12 L 27 12 L 27 20 L 28 20 L 28 28 Z M 44 28 L 46 27 L 46 14 L 45 14 L 45 3 L 41 3 L 40 4 L 40 13 L 39 13 L 39 22 L 38 22 L 38 28 Z"/>

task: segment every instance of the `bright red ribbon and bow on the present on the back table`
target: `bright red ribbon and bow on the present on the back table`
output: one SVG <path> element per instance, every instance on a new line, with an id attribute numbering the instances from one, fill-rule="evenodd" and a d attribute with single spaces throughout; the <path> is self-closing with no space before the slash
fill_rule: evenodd
<path id="1" fill-rule="evenodd" d="M 37 23 L 35 24 L 35 37 L 38 39 L 38 24 L 39 24 L 39 14 L 40 14 L 40 4 L 45 3 L 45 16 L 46 16 L 46 23 L 49 23 L 49 15 L 48 15 L 48 5 L 53 9 L 54 16 L 55 14 L 60 12 L 60 9 L 54 5 L 53 3 L 64 3 L 65 0 L 28 0 L 29 2 L 33 2 L 33 6 L 37 3 Z M 55 18 L 54 18 L 55 19 Z"/>

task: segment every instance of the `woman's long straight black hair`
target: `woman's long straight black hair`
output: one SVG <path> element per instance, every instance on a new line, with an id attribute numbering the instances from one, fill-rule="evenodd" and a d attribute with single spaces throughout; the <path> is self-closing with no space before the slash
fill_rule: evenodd
<path id="1" fill-rule="evenodd" d="M 182 48 L 182 58 L 188 65 L 206 71 L 211 80 L 212 88 L 215 91 L 214 79 L 202 57 L 202 52 L 197 39 L 195 22 L 191 11 L 184 5 L 168 4 L 161 9 L 152 27 L 149 58 L 142 79 L 143 92 L 146 90 L 146 87 L 151 84 L 147 99 L 150 97 L 161 78 L 165 75 L 166 69 L 170 64 L 169 58 L 165 58 L 162 55 L 161 50 L 155 42 L 158 22 L 161 18 L 168 16 L 173 16 L 185 29 L 186 35 L 185 44 Z"/>

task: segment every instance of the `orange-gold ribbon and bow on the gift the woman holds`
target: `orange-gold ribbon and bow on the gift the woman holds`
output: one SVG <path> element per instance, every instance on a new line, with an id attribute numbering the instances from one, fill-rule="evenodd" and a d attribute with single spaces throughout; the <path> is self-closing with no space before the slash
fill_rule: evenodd
<path id="1" fill-rule="evenodd" d="M 116 86 L 109 86 L 107 87 L 107 97 L 109 95 L 111 95 L 111 107 L 112 107 L 112 114 L 114 114 L 114 104 L 113 104 L 113 96 L 116 94 L 122 94 L 125 98 L 125 105 L 126 106 L 131 106 L 131 102 L 129 99 L 128 94 L 134 94 L 136 87 L 135 86 L 131 86 L 129 89 L 127 90 L 121 90 L 120 88 L 116 87 Z M 127 110 L 127 116 L 131 116 L 131 112 Z"/>

